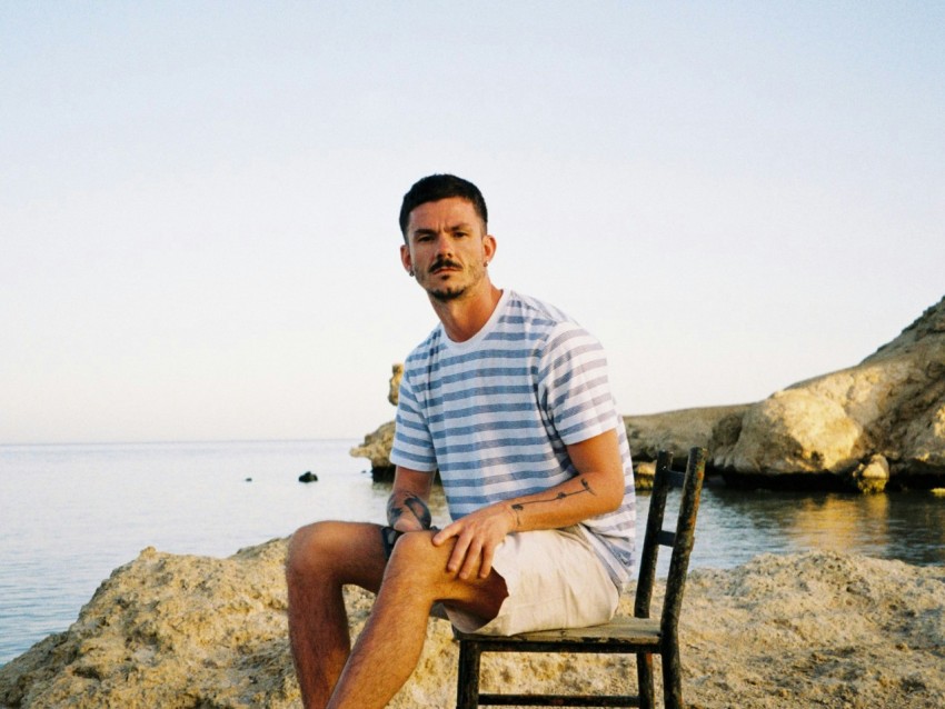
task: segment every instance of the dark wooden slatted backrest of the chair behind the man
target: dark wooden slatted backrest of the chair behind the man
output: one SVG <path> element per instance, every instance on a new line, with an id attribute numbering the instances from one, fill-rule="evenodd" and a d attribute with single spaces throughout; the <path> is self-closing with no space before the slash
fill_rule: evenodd
<path id="1" fill-rule="evenodd" d="M 686 585 L 686 572 L 689 568 L 689 553 L 693 551 L 696 536 L 696 515 L 699 510 L 705 467 L 706 451 L 703 448 L 689 450 L 685 473 L 673 470 L 672 453 L 662 450 L 656 457 L 656 473 L 653 479 L 653 491 L 649 496 L 649 513 L 640 555 L 634 616 L 637 618 L 650 617 L 649 607 L 653 599 L 653 586 L 656 581 L 659 547 L 672 547 L 673 556 L 669 559 L 669 573 L 666 577 L 666 595 L 660 616 L 660 627 L 664 633 L 675 632 L 679 623 L 679 609 L 683 606 L 683 590 Z M 663 528 L 666 498 L 670 487 L 683 488 L 675 531 Z"/>

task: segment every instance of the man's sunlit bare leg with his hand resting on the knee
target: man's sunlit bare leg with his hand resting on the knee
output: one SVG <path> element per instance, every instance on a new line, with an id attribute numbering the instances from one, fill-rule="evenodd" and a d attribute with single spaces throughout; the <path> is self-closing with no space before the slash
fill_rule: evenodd
<path id="1" fill-rule="evenodd" d="M 329 709 L 382 709 L 409 679 L 426 639 L 430 608 L 446 600 L 494 618 L 505 581 L 461 580 L 446 571 L 452 543 L 434 547 L 432 532 L 411 532 L 397 542 L 370 618 L 348 658 Z"/>

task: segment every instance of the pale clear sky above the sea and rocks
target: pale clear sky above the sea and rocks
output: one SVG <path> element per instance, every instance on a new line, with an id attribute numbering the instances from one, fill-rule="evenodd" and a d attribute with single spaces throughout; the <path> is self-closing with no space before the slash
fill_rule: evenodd
<path id="1" fill-rule="evenodd" d="M 762 400 L 945 294 L 941 2 L 0 4 L 0 443 L 360 439 L 436 324 L 410 184 L 623 413 Z"/>

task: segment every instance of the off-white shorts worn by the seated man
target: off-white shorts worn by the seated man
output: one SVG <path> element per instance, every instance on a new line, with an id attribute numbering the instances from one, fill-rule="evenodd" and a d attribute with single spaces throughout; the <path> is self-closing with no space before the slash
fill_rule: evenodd
<path id="1" fill-rule="evenodd" d="M 446 608 L 464 632 L 513 636 L 553 628 L 586 628 L 607 622 L 620 599 L 617 587 L 578 527 L 509 535 L 496 549 L 493 569 L 508 597 L 488 622 Z"/>

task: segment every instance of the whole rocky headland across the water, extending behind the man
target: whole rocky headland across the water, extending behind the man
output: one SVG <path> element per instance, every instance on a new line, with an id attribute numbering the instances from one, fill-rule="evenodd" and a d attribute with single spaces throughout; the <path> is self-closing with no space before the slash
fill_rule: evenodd
<path id="1" fill-rule="evenodd" d="M 394 392 L 400 371 L 395 366 Z M 391 402 L 396 400 L 392 395 Z M 709 451 L 730 486 L 849 489 L 945 486 L 945 298 L 859 365 L 792 385 L 757 403 L 624 417 L 646 485 L 660 449 Z M 351 455 L 392 473 L 394 421 Z"/>

